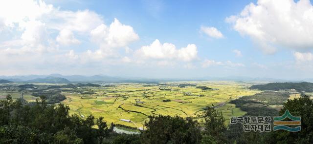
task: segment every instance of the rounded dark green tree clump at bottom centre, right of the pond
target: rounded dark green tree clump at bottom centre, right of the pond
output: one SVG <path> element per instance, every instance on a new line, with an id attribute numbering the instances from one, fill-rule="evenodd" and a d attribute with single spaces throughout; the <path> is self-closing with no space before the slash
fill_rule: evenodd
<path id="1" fill-rule="evenodd" d="M 142 133 L 144 144 L 199 144 L 201 132 L 199 123 L 179 116 L 149 116 Z"/>

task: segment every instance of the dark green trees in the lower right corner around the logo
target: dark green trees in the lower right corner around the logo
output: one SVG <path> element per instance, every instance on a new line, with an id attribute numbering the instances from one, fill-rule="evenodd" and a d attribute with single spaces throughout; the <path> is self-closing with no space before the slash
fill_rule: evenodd
<path id="1" fill-rule="evenodd" d="M 289 132 L 278 130 L 272 132 L 243 132 L 241 124 L 231 124 L 227 130 L 229 143 L 237 144 L 313 144 L 313 101 L 308 96 L 288 100 L 283 109 L 275 116 L 281 116 L 289 110 L 293 116 L 301 117 L 301 131 Z M 288 119 L 287 119 L 288 121 Z"/>

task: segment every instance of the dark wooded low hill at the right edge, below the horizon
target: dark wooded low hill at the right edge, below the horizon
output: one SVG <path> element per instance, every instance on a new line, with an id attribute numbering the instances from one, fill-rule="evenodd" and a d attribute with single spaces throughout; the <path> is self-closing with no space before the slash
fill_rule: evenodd
<path id="1" fill-rule="evenodd" d="M 313 83 L 311 82 L 274 82 L 268 84 L 252 85 L 251 89 L 259 90 L 280 90 L 295 89 L 297 91 L 313 92 Z"/>

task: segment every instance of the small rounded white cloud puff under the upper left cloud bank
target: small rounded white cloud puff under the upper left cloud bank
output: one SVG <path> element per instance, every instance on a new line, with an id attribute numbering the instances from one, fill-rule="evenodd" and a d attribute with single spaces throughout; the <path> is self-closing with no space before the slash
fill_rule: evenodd
<path id="1" fill-rule="evenodd" d="M 80 41 L 74 37 L 73 32 L 67 29 L 63 29 L 60 31 L 59 35 L 56 38 L 56 41 L 63 45 L 80 44 Z"/>

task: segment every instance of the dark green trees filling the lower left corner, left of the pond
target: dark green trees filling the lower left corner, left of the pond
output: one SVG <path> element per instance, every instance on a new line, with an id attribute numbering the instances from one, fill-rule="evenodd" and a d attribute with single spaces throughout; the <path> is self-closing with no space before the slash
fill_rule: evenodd
<path id="1" fill-rule="evenodd" d="M 69 116 L 64 104 L 47 105 L 44 96 L 34 105 L 0 101 L 0 144 L 102 144 L 109 130 L 103 118 Z M 94 125 L 99 128 L 93 128 Z"/>

